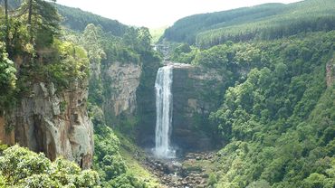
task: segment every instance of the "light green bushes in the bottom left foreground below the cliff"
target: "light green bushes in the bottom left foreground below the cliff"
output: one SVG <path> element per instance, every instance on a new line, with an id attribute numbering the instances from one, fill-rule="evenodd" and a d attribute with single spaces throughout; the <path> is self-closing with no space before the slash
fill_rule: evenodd
<path id="1" fill-rule="evenodd" d="M 20 146 L 6 149 L 0 156 L 0 185 L 14 187 L 100 187 L 98 174 L 62 158 L 51 162 Z"/>

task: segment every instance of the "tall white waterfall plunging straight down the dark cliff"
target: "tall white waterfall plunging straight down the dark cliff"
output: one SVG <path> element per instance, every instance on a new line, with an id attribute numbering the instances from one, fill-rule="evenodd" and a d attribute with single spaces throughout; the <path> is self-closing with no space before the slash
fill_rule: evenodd
<path id="1" fill-rule="evenodd" d="M 170 147 L 169 136 L 172 124 L 172 92 L 173 66 L 159 68 L 156 89 L 156 147 L 155 155 L 159 158 L 175 158 L 175 151 Z"/>

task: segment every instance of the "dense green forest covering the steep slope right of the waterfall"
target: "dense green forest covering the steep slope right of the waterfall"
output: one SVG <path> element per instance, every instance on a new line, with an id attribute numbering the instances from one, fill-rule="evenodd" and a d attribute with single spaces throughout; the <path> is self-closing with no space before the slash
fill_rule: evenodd
<path id="1" fill-rule="evenodd" d="M 334 32 L 176 49 L 180 60 L 230 75 L 232 87 L 210 117 L 228 143 L 215 186 L 335 186 L 334 80 L 326 85 Z"/>

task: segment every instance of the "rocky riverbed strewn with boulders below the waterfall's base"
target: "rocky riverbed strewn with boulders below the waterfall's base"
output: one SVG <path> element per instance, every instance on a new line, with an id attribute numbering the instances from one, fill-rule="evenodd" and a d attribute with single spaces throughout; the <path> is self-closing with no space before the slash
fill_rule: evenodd
<path id="1" fill-rule="evenodd" d="M 206 187 L 211 168 L 215 165 L 215 153 L 189 153 L 177 159 L 150 156 L 144 163 L 165 187 Z"/>

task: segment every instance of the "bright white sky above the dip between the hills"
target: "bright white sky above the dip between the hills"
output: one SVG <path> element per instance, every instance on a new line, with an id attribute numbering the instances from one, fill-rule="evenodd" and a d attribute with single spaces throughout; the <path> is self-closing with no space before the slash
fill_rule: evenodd
<path id="1" fill-rule="evenodd" d="M 158 28 L 191 14 L 211 13 L 265 3 L 300 0 L 57 0 L 58 4 L 118 20 L 122 24 Z"/>

